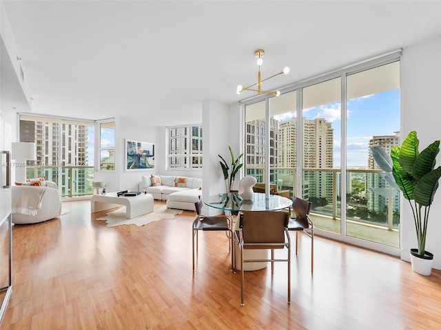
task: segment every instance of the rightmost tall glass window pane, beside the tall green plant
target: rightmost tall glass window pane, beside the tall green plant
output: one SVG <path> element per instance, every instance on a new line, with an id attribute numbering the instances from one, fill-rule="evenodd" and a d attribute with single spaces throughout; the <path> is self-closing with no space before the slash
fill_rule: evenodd
<path id="1" fill-rule="evenodd" d="M 346 233 L 398 248 L 400 194 L 383 192 L 390 187 L 369 146 L 390 154 L 400 145 L 400 62 L 357 70 L 346 86 Z"/>

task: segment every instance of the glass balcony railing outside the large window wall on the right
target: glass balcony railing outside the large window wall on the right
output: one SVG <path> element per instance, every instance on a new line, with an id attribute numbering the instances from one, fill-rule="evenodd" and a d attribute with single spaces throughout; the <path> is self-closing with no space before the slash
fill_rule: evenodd
<path id="1" fill-rule="evenodd" d="M 317 219 L 316 228 L 340 233 L 341 220 L 341 170 L 339 168 L 303 168 L 302 192 L 296 193 L 297 168 L 270 168 L 271 184 L 278 190 L 290 190 L 291 198 L 302 196 L 312 202 L 311 216 Z M 366 232 L 372 236 L 369 240 L 378 241 L 384 233 L 390 232 L 393 238 L 391 246 L 398 246 L 398 228 L 400 225 L 400 195 L 386 198 L 376 194 L 370 188 L 388 188 L 382 179 L 382 170 L 347 169 L 346 206 L 343 208 L 349 236 L 363 236 Z M 246 175 L 256 177 L 258 182 L 265 181 L 265 168 L 247 166 Z M 360 227 L 361 226 L 361 227 Z M 363 234 L 360 234 L 360 228 Z M 377 232 L 375 232 L 377 230 Z"/>

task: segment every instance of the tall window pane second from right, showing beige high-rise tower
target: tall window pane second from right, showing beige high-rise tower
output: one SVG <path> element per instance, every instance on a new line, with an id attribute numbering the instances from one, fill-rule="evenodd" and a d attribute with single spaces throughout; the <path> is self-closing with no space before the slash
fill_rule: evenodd
<path id="1" fill-rule="evenodd" d="M 302 88 L 302 198 L 316 228 L 340 233 L 341 78 Z"/>

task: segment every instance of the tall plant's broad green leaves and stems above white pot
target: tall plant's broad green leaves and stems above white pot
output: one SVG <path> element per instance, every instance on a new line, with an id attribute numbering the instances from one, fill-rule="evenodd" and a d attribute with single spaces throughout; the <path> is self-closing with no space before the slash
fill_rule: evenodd
<path id="1" fill-rule="evenodd" d="M 401 147 L 391 149 L 391 158 L 393 178 L 412 208 L 418 254 L 424 256 L 429 211 L 441 177 L 441 166 L 435 168 L 440 140 L 429 144 L 421 153 L 418 151 L 419 144 L 416 131 L 412 131 Z"/>

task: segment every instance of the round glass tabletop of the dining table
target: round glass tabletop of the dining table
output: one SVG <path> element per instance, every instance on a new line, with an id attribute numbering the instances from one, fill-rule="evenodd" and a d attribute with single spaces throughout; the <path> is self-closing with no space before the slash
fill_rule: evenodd
<path id="1" fill-rule="evenodd" d="M 292 200 L 278 195 L 269 195 L 254 192 L 252 200 L 243 200 L 238 192 L 229 192 L 218 195 L 212 195 L 208 201 L 204 201 L 207 206 L 218 208 L 225 211 L 268 211 L 282 210 L 292 206 Z"/>

